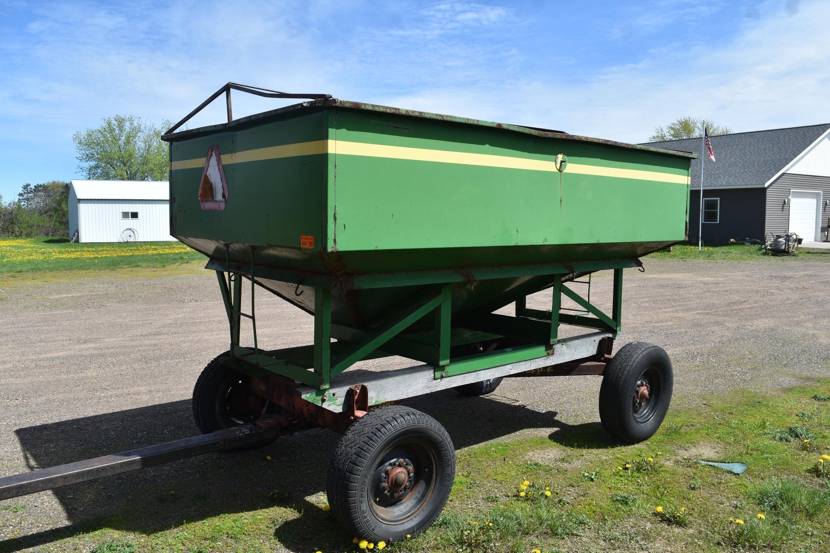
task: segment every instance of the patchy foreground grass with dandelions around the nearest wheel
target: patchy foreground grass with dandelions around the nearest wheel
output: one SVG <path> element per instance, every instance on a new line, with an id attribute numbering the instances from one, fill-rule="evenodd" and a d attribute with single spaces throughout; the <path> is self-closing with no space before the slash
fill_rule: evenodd
<path id="1" fill-rule="evenodd" d="M 813 395 L 830 395 L 830 381 L 708 396 L 706 405 L 671 410 L 660 431 L 636 445 L 614 444 L 599 424 L 582 424 L 464 449 L 441 517 L 385 551 L 830 551 L 830 480 L 818 462 L 830 454 L 830 403 Z M 776 439 L 779 429 L 792 439 Z M 739 476 L 697 458 L 748 468 Z M 359 551 L 320 508 L 324 497 L 298 502 L 281 491 L 262 500 L 251 511 L 141 533 L 135 521 L 159 508 L 148 499 L 50 545 L 247 552 L 280 549 L 283 538 L 292 551 Z M 115 529 L 125 519 L 131 531 Z"/>

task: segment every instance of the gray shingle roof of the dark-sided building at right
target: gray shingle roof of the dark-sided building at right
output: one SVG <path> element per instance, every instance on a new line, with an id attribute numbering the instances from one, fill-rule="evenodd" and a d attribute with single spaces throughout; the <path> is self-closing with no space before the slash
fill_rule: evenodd
<path id="1" fill-rule="evenodd" d="M 830 123 L 789 129 L 759 130 L 752 133 L 710 136 L 715 163 L 706 157 L 703 170 L 704 187 L 763 187 L 788 163 L 808 148 Z M 643 146 L 693 152 L 691 186 L 701 186 L 701 138 L 648 142 Z"/>

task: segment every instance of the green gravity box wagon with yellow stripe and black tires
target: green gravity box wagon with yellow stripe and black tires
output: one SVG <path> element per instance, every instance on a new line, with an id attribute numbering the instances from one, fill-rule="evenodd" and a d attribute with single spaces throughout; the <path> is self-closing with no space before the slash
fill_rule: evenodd
<path id="1" fill-rule="evenodd" d="M 233 120 L 231 90 L 309 100 Z M 174 132 L 220 95 L 227 124 Z M 414 536 L 447 501 L 452 439 L 408 397 L 601 375 L 616 439 L 661 424 L 666 352 L 613 340 L 623 269 L 686 240 L 692 154 L 233 83 L 163 138 L 171 234 L 209 258 L 230 327 L 193 390 L 201 438 L 342 433 L 326 490 L 354 535 Z M 257 289 L 314 316 L 309 345 L 259 342 Z M 414 362 L 349 370 L 388 356 Z"/>

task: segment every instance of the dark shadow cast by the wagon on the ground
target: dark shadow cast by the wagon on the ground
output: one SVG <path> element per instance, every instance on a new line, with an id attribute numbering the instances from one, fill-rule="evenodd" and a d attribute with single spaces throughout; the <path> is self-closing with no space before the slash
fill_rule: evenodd
<path id="1" fill-rule="evenodd" d="M 406 405 L 439 420 L 457 449 L 521 429 L 561 427 L 553 411 L 539 413 L 515 401 L 466 397 L 452 390 L 414 398 Z M 32 426 L 16 434 L 27 464 L 34 469 L 182 439 L 198 430 L 190 401 L 183 400 Z M 274 505 L 300 513 L 275 528 L 275 537 L 289 549 L 306 550 L 310 544 L 318 549 L 341 548 L 347 541 L 350 544 L 352 536 L 319 507 L 325 502 L 320 494 L 325 494 L 325 473 L 338 438 L 330 431 L 311 429 L 261 449 L 207 454 L 58 488 L 53 493 L 71 524 L 0 541 L 0 551 L 42 546 L 101 528 L 146 535 L 184 521 Z M 275 490 L 279 490 L 276 497 Z M 310 498 L 318 499 L 318 504 Z"/>

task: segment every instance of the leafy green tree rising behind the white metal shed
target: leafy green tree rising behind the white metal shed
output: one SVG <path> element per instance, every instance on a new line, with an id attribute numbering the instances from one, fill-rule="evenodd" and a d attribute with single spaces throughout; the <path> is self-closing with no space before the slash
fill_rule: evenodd
<path id="1" fill-rule="evenodd" d="M 167 145 L 162 129 L 133 115 L 105 117 L 97 129 L 72 135 L 79 168 L 86 178 L 108 181 L 164 181 L 168 177 Z M 166 129 L 168 121 L 162 121 Z"/>

